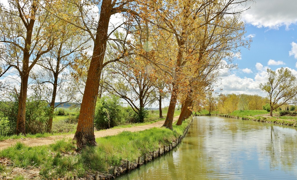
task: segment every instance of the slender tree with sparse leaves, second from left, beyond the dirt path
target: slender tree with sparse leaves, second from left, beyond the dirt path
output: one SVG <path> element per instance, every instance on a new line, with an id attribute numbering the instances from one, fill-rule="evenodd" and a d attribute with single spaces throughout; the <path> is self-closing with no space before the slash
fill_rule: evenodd
<path id="1" fill-rule="evenodd" d="M 37 63 L 41 68 L 38 68 L 32 75 L 37 88 L 42 89 L 44 98 L 51 107 L 47 132 L 51 132 L 52 129 L 54 109 L 72 101 L 75 97 L 73 94 L 77 94 L 77 88 L 67 88 L 71 84 L 68 67 L 75 62 L 76 58 L 80 57 L 79 52 L 83 52 L 89 47 L 88 45 L 84 47 L 87 40 L 83 40 L 83 32 L 80 29 L 57 20 L 55 17 L 51 17 L 51 19 L 56 19 L 56 23 L 59 23 L 62 35 L 53 42 L 55 47 L 43 55 L 43 58 Z M 55 104 L 58 94 L 60 103 Z"/>

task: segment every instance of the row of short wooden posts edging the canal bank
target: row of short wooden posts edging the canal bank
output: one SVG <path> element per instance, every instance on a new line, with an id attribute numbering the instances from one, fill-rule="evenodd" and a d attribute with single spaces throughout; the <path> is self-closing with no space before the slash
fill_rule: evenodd
<path id="1" fill-rule="evenodd" d="M 192 123 L 192 121 L 191 121 Z M 171 144 L 169 144 L 169 146 L 164 145 L 163 146 L 163 154 L 165 154 L 165 152 L 169 152 L 173 149 L 173 147 L 176 147 L 179 143 L 181 143 L 181 140 L 185 137 L 185 135 L 187 134 L 189 127 L 191 125 L 191 123 L 187 126 L 187 128 L 184 130 L 183 135 L 180 135 L 178 138 L 176 138 L 175 140 L 173 140 L 173 142 Z M 167 147 L 168 147 L 168 151 L 167 151 Z M 152 160 L 154 160 L 156 158 L 155 154 L 156 152 L 158 152 L 158 157 L 160 157 L 162 155 L 161 152 L 161 148 L 159 147 L 158 151 L 153 151 L 152 152 Z M 137 161 L 137 168 L 139 168 L 141 166 L 141 156 L 138 157 L 138 161 Z M 146 164 L 148 162 L 148 158 L 147 158 L 147 153 L 144 153 L 144 164 Z M 127 168 L 126 168 L 126 172 L 128 173 L 130 171 L 130 161 L 127 161 Z M 116 177 L 117 175 L 117 166 L 113 167 L 113 176 Z M 118 174 L 119 175 L 119 174 Z M 95 173 L 95 180 L 99 180 L 99 172 L 96 171 Z M 74 176 L 74 180 L 77 180 L 77 176 Z"/>

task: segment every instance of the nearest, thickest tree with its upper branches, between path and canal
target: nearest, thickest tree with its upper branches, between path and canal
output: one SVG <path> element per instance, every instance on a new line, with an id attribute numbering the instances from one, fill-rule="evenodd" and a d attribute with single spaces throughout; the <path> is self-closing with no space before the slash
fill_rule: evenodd
<path id="1" fill-rule="evenodd" d="M 116 27 L 114 27 L 111 32 L 108 32 L 110 17 L 111 15 L 114 15 L 116 13 L 129 11 L 131 9 L 130 6 L 133 4 L 130 0 L 67 0 L 58 1 L 58 3 L 57 1 L 50 1 L 48 3 L 48 6 L 51 7 L 50 9 L 48 9 L 48 11 L 52 12 L 54 15 L 56 15 L 56 17 L 61 18 L 65 22 L 86 31 L 90 36 L 92 44 L 94 46 L 87 72 L 86 86 L 83 92 L 83 99 L 80 107 L 80 116 L 78 119 L 78 126 L 75 132 L 74 139 L 76 139 L 79 149 L 87 145 L 95 146 L 96 141 L 94 136 L 94 113 L 97 95 L 99 92 L 102 69 L 110 62 L 119 61 L 119 59 L 127 55 L 127 49 L 124 49 L 120 54 L 118 54 L 117 57 L 115 57 L 115 59 L 111 59 L 106 62 L 104 61 L 107 41 L 109 39 L 112 39 L 110 38 L 110 35 L 113 34 L 113 32 L 120 27 L 115 25 Z M 57 11 L 57 9 L 59 9 L 59 6 L 65 3 L 67 5 L 74 6 L 77 9 L 77 13 L 67 14 L 62 11 Z M 96 9 L 98 9 L 98 11 L 94 11 Z"/>

